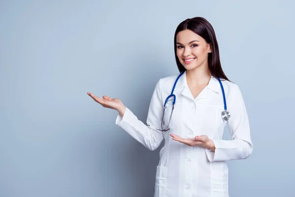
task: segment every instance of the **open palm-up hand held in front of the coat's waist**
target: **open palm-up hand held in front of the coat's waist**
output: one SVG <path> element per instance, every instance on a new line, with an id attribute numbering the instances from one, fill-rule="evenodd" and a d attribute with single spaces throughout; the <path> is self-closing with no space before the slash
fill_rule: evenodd
<path id="1" fill-rule="evenodd" d="M 212 151 L 215 151 L 214 142 L 212 139 L 209 139 L 207 135 L 197 135 L 195 138 L 182 138 L 179 135 L 176 134 L 170 134 L 173 140 L 179 141 L 181 143 L 184 143 L 189 146 L 200 146 L 203 148 L 210 149 Z"/>

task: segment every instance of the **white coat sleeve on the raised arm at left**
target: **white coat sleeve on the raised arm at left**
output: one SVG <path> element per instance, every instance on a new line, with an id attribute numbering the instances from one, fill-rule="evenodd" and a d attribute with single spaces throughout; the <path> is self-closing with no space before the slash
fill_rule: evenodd
<path id="1" fill-rule="evenodd" d="M 116 119 L 116 125 L 129 133 L 149 150 L 157 149 L 164 138 L 163 131 L 157 130 L 158 128 L 161 128 L 163 113 L 160 83 L 161 79 L 156 84 L 151 97 L 147 118 L 148 126 L 138 120 L 127 107 L 123 117 L 118 114 Z"/>

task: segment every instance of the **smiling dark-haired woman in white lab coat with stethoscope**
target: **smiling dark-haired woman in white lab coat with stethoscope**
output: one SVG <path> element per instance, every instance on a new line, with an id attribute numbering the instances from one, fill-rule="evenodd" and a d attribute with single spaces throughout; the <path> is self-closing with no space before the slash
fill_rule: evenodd
<path id="1" fill-rule="evenodd" d="M 156 84 L 147 125 L 120 99 L 88 95 L 118 110 L 116 124 L 149 150 L 165 139 L 156 168 L 155 197 L 228 197 L 225 161 L 246 159 L 253 150 L 242 94 L 221 68 L 216 36 L 206 19 L 181 22 L 174 46 L 180 74 Z M 232 140 L 222 140 L 226 124 Z"/>

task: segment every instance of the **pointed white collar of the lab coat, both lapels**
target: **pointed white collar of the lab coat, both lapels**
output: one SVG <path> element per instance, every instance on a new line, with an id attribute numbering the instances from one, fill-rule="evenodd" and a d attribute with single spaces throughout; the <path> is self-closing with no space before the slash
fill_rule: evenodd
<path id="1" fill-rule="evenodd" d="M 179 77 L 174 91 L 177 91 L 177 90 L 179 90 L 180 88 L 183 88 L 183 87 L 187 87 L 188 88 L 187 81 L 186 81 L 186 70 Z M 221 92 L 221 87 L 220 87 L 219 81 L 218 81 L 217 78 L 215 78 L 213 76 L 211 76 L 211 78 L 209 80 L 209 83 L 208 83 L 208 85 L 206 87 L 208 89 L 216 92 L 216 93 L 220 93 Z"/>

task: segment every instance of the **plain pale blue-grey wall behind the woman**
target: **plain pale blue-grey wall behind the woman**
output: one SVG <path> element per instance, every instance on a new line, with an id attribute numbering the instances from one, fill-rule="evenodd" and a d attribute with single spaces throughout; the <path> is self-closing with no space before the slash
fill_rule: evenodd
<path id="1" fill-rule="evenodd" d="M 230 196 L 294 197 L 294 8 L 0 0 L 0 197 L 153 196 L 160 148 L 144 148 L 87 92 L 120 98 L 146 123 L 156 82 L 178 72 L 176 27 L 195 16 L 212 24 L 251 125 L 252 155 L 228 162 Z"/>

